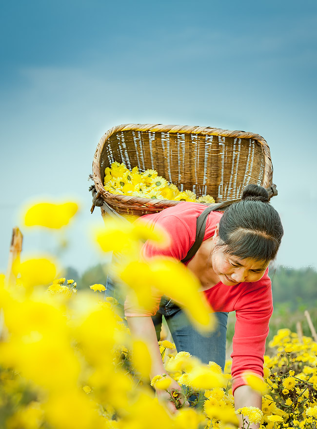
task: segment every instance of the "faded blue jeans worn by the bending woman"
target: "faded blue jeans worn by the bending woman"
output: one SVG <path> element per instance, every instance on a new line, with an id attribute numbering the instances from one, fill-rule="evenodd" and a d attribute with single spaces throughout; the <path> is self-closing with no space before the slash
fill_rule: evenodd
<path id="1" fill-rule="evenodd" d="M 116 297 L 116 287 L 108 277 L 105 296 Z M 119 298 L 118 296 L 116 297 Z M 118 310 L 123 314 L 124 300 L 119 298 Z M 186 313 L 171 299 L 163 296 L 158 312 L 152 316 L 159 340 L 164 316 L 171 331 L 177 351 L 188 351 L 192 356 L 198 357 L 202 363 L 213 361 L 224 369 L 226 360 L 226 333 L 228 313 L 216 312 L 217 326 L 214 331 L 202 334 L 189 321 Z"/>

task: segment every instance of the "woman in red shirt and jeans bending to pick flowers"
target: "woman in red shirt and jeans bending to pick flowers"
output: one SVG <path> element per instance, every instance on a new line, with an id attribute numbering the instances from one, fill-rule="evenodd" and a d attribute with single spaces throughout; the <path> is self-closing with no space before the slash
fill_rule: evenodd
<path id="1" fill-rule="evenodd" d="M 240 202 L 230 205 L 223 214 L 210 212 L 201 245 L 195 255 L 185 261 L 196 239 L 196 220 L 204 209 L 202 204 L 184 202 L 143 216 L 142 222 L 163 227 L 171 237 L 171 244 L 159 249 L 147 242 L 142 252 L 146 258 L 169 256 L 187 265 L 198 277 L 201 290 L 216 311 L 217 331 L 209 337 L 200 335 L 167 297 L 158 297 L 157 308 L 152 313 L 140 313 L 126 302 L 127 322 L 131 333 L 142 337 L 151 350 L 150 377 L 153 377 L 165 372 L 157 342 L 162 315 L 178 351 L 188 351 L 204 363 L 214 361 L 224 368 L 227 315 L 229 311 L 236 311 L 231 355 L 235 406 L 261 408 L 261 396 L 246 386 L 241 375 L 250 371 L 263 376 L 265 340 L 273 311 L 268 265 L 276 257 L 281 242 L 281 221 L 269 204 L 267 191 L 248 185 Z M 179 389 L 175 380 L 170 389 Z M 157 390 L 157 393 L 159 398 L 169 397 L 165 391 Z M 172 403 L 167 402 L 167 406 L 175 411 Z"/>

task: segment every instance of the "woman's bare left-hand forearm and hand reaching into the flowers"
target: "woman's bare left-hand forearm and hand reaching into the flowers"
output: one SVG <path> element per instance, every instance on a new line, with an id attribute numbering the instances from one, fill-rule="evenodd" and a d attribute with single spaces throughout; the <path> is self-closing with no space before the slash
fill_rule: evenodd
<path id="1" fill-rule="evenodd" d="M 151 316 L 127 317 L 127 322 L 128 322 L 128 326 L 132 337 L 142 339 L 146 344 L 146 346 L 148 347 L 148 350 L 150 352 L 151 359 L 152 359 L 151 372 L 149 374 L 150 379 L 152 379 L 158 374 L 166 373 L 165 368 L 163 366 L 162 358 L 160 355 L 156 331 L 155 331 L 155 327 Z M 166 377 L 170 378 L 169 375 L 166 375 Z M 169 390 L 181 391 L 181 388 L 178 385 L 178 383 L 172 378 L 171 378 L 171 385 L 169 387 Z M 156 389 L 156 392 L 158 395 L 158 399 L 160 401 L 165 401 L 167 409 L 169 409 L 170 412 L 175 413 L 176 412 L 175 404 L 169 401 L 170 394 L 167 391 L 161 390 L 161 389 Z M 178 397 L 178 400 L 180 403 L 182 403 L 181 397 Z"/>

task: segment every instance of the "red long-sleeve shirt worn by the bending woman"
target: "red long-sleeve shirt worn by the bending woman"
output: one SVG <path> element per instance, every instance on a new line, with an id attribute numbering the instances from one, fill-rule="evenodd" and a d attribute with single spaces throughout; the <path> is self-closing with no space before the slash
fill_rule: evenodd
<path id="1" fill-rule="evenodd" d="M 159 213 L 142 216 L 141 222 L 159 225 L 171 237 L 171 243 L 167 248 L 158 248 L 147 242 L 142 248 L 143 256 L 151 258 L 161 255 L 181 261 L 195 242 L 197 217 L 204 209 L 205 206 L 202 204 L 182 202 Z M 215 227 L 221 216 L 222 213 L 215 211 L 208 215 L 204 240 L 214 235 Z M 271 280 L 268 276 L 268 269 L 257 282 L 243 282 L 234 286 L 226 286 L 219 282 L 203 293 L 214 311 L 236 311 L 233 352 L 231 354 L 234 391 L 239 386 L 246 384 L 241 377 L 243 372 L 250 371 L 263 376 L 265 340 L 273 312 Z M 155 314 L 160 298 L 160 296 L 156 297 L 157 306 L 152 313 L 140 313 L 127 300 L 125 314 L 126 316 Z"/>

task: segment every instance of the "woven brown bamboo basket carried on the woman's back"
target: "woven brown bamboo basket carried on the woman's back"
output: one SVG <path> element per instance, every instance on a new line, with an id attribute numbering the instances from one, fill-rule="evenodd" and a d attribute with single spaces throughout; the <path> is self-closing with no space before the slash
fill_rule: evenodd
<path id="1" fill-rule="evenodd" d="M 155 213 L 179 203 L 172 200 L 115 195 L 104 189 L 104 170 L 111 163 L 129 169 L 155 169 L 180 191 L 212 195 L 216 203 L 237 201 L 247 184 L 258 184 L 276 195 L 272 184 L 270 148 L 263 137 L 244 131 L 211 127 L 123 124 L 108 130 L 100 139 L 94 160 L 93 207 L 101 212 Z M 202 204 L 202 203 L 201 203 Z M 209 205 L 209 204 L 207 204 Z"/>

